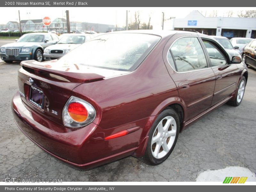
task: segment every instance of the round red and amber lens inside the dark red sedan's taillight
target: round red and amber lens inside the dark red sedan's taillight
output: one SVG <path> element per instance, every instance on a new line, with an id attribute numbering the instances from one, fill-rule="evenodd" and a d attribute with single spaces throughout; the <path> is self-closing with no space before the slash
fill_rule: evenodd
<path id="1" fill-rule="evenodd" d="M 84 105 L 78 102 L 73 102 L 68 105 L 68 115 L 76 122 L 84 122 L 87 119 L 88 113 Z"/>

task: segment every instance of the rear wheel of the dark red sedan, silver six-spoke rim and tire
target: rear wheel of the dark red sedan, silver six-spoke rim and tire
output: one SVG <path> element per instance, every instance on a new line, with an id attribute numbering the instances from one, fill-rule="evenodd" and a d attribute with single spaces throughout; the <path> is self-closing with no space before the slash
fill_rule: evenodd
<path id="1" fill-rule="evenodd" d="M 148 144 L 142 161 L 149 165 L 163 163 L 172 153 L 180 131 L 175 110 L 167 108 L 156 118 L 148 134 Z"/>

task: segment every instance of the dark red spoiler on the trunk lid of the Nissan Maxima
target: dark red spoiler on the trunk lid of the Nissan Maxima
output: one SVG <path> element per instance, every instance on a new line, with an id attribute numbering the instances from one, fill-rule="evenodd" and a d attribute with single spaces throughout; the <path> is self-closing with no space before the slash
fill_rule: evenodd
<path id="1" fill-rule="evenodd" d="M 22 61 L 20 65 L 23 69 L 30 73 L 34 73 L 39 76 L 44 76 L 44 74 L 52 74 L 55 76 L 60 76 L 62 78 L 67 79 L 69 82 L 74 83 L 85 83 L 85 82 L 92 82 L 92 81 L 99 81 L 105 78 L 104 76 L 98 75 L 96 73 L 75 73 L 75 72 L 68 72 L 68 71 L 59 71 L 55 69 L 47 68 L 49 65 L 40 65 L 35 64 L 36 60 L 28 60 Z"/>

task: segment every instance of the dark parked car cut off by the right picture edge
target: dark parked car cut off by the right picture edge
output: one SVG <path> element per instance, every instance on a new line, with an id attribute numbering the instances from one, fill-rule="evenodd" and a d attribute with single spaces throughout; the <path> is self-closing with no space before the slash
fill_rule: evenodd
<path id="1" fill-rule="evenodd" d="M 244 47 L 242 60 L 247 66 L 249 65 L 256 69 L 256 39 L 253 39 Z"/>

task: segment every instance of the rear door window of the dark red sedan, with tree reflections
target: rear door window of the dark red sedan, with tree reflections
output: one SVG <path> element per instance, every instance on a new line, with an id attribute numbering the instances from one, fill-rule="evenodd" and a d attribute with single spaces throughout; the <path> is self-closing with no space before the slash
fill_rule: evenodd
<path id="1" fill-rule="evenodd" d="M 183 37 L 174 42 L 167 59 L 176 71 L 187 72 L 207 68 L 203 48 L 197 37 Z M 171 57 L 173 56 L 173 57 Z M 172 60 L 173 58 L 173 60 Z M 172 63 L 173 62 L 173 63 Z"/>

